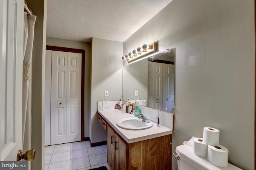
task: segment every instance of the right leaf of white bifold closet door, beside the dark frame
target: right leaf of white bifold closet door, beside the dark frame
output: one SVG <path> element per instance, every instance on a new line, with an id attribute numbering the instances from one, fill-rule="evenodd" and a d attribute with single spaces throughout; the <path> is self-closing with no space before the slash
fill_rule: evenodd
<path id="1" fill-rule="evenodd" d="M 67 142 L 81 141 L 82 54 L 68 53 Z"/>

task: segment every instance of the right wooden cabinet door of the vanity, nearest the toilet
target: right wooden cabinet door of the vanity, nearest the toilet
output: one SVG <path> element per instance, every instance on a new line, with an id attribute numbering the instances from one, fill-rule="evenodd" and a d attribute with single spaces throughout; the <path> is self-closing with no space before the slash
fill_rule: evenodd
<path id="1" fill-rule="evenodd" d="M 114 134 L 115 139 L 115 170 L 126 170 L 127 168 L 127 157 L 126 157 L 126 150 L 127 145 L 116 135 Z"/>

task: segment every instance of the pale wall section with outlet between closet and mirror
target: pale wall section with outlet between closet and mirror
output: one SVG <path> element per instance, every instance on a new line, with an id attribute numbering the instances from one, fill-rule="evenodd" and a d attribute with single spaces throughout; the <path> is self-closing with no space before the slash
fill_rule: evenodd
<path id="1" fill-rule="evenodd" d="M 108 100 L 122 98 L 123 43 L 92 38 L 91 80 L 91 143 L 106 141 L 106 131 L 97 120 L 97 101 L 102 101 L 105 90 Z"/>

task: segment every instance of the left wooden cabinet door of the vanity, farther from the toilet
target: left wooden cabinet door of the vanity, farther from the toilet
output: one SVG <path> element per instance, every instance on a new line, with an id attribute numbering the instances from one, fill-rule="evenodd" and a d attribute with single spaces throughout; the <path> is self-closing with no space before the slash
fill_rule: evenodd
<path id="1" fill-rule="evenodd" d="M 108 165 L 114 170 L 114 131 L 107 125 Z"/>

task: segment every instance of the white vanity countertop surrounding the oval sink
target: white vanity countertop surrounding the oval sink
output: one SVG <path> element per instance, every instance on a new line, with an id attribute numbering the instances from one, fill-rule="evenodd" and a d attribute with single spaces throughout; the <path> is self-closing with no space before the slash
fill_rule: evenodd
<path id="1" fill-rule="evenodd" d="M 134 143 L 138 141 L 144 141 L 156 137 L 172 134 L 172 129 L 159 125 L 156 123 L 149 128 L 144 130 L 126 130 L 118 127 L 116 123 L 121 119 L 131 118 L 134 115 L 129 113 L 122 113 L 122 110 L 108 109 L 98 110 L 98 113 L 107 121 L 107 123 L 127 142 Z"/>

